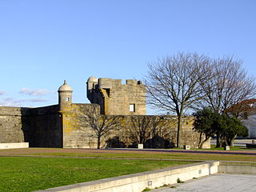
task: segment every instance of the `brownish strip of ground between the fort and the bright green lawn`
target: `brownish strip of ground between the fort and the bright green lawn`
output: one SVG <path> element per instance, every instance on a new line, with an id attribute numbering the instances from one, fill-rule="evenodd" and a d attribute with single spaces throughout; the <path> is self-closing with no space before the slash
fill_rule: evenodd
<path id="1" fill-rule="evenodd" d="M 184 150 L 186 152 L 186 150 Z M 248 151 L 248 150 L 246 150 Z M 197 161 L 242 161 L 256 162 L 256 156 L 250 154 L 196 154 L 179 152 L 151 152 L 146 150 L 117 151 L 117 150 L 72 150 L 56 148 L 28 148 L 0 150 L 1 154 L 15 155 L 46 155 L 46 156 L 65 156 L 65 157 L 91 157 L 91 158 L 153 158 L 153 159 L 186 159 Z"/>

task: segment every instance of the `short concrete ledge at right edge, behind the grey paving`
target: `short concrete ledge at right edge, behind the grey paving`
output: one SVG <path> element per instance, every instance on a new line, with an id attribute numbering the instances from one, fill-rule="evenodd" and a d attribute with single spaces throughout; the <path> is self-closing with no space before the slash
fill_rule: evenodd
<path id="1" fill-rule="evenodd" d="M 256 162 L 220 162 L 218 173 L 256 174 Z"/>

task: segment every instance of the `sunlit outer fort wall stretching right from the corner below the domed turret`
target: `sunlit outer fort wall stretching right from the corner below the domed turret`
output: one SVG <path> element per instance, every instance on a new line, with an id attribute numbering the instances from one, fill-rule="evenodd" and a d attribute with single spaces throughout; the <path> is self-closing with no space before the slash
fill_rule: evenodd
<path id="1" fill-rule="evenodd" d="M 71 113 L 63 115 L 63 147 L 64 148 L 97 148 L 97 137 L 93 128 L 88 123 L 89 111 L 99 106 L 90 104 L 72 104 Z M 104 115 L 99 115 L 102 118 Z M 178 119 L 175 116 L 156 115 L 107 115 L 120 119 L 120 125 L 110 131 L 110 134 L 102 136 L 102 148 L 105 147 L 136 147 L 138 142 L 134 141 L 133 134 L 138 134 L 138 124 L 149 125 L 146 127 L 147 138 L 144 143 L 146 148 L 170 148 L 176 146 Z M 140 118 L 140 122 L 134 119 Z M 163 118 L 162 122 L 150 130 L 156 119 Z M 145 119 L 145 120 L 144 120 Z M 142 122 L 144 121 L 144 122 Z M 194 118 L 191 116 L 182 119 L 181 145 L 189 145 L 197 148 L 199 134 L 192 130 Z M 100 124 L 100 122 L 99 122 Z M 157 136 L 157 137 L 155 137 Z M 113 143 L 114 142 L 114 143 Z M 204 148 L 210 148 L 210 141 L 206 142 Z"/>

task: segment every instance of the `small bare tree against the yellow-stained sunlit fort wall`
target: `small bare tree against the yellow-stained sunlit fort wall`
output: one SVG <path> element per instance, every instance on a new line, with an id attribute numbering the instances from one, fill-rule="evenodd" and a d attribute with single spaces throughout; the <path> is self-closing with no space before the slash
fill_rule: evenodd
<path id="1" fill-rule="evenodd" d="M 106 138 L 111 134 L 111 131 L 121 126 L 122 116 L 116 115 L 101 115 L 98 108 L 92 106 L 86 111 L 86 126 L 93 130 L 93 135 L 98 140 L 97 147 L 101 148 L 102 138 Z"/>

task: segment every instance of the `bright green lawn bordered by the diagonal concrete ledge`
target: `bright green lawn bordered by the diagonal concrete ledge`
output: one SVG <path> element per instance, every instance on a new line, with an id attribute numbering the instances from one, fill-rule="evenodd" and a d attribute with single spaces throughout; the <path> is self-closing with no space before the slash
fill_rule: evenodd
<path id="1" fill-rule="evenodd" d="M 0 157 L 0 191 L 34 191 L 191 162 Z"/>

